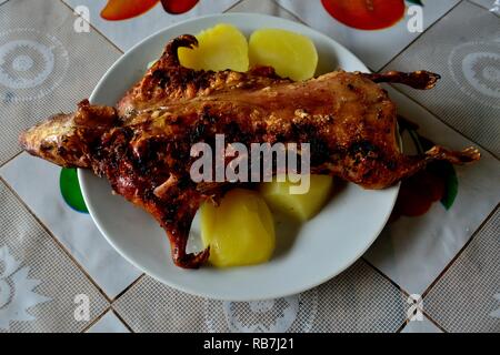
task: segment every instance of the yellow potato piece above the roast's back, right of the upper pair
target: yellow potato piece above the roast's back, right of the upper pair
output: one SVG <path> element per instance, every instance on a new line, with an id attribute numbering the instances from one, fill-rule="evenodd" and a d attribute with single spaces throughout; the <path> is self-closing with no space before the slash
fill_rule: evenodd
<path id="1" fill-rule="evenodd" d="M 294 81 L 314 77 L 318 51 L 306 36 L 279 29 L 257 30 L 249 42 L 250 65 L 270 65 Z"/>

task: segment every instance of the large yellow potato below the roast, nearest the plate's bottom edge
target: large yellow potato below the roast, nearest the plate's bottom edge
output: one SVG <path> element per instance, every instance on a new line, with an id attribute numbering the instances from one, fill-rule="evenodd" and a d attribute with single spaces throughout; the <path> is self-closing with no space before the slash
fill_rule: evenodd
<path id="1" fill-rule="evenodd" d="M 253 191 L 233 190 L 216 207 L 201 207 L 201 239 L 217 267 L 269 261 L 274 252 L 274 222 L 263 199 Z"/>

